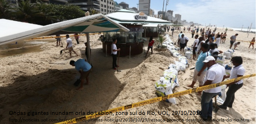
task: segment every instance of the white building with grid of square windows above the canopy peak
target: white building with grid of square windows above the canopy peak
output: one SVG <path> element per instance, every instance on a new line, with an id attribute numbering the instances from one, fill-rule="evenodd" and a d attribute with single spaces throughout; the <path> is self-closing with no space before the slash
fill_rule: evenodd
<path id="1" fill-rule="evenodd" d="M 104 15 L 113 13 L 115 11 L 115 5 L 113 0 L 100 0 L 100 12 Z"/>

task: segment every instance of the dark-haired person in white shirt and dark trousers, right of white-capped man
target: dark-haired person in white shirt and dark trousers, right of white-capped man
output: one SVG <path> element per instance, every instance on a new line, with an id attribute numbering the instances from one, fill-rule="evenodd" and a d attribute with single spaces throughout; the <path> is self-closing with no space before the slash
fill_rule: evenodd
<path id="1" fill-rule="evenodd" d="M 242 66 L 243 59 L 241 56 L 235 56 L 231 58 L 231 62 L 234 65 L 233 69 L 231 70 L 230 75 L 226 75 L 226 78 L 234 79 L 238 77 L 242 77 L 245 74 L 245 68 Z M 229 90 L 227 91 L 226 100 L 222 105 L 218 105 L 221 109 L 227 109 L 227 107 L 232 108 L 233 102 L 235 100 L 235 93 L 243 86 L 243 80 L 238 80 L 227 84 Z"/>

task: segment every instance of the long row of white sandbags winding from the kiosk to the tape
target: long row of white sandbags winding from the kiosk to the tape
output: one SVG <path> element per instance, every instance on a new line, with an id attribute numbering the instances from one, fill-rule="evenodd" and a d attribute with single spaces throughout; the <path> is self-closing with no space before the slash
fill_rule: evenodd
<path id="1" fill-rule="evenodd" d="M 180 70 L 185 71 L 189 65 L 187 58 L 185 56 L 182 56 L 177 51 L 179 50 L 179 48 L 176 48 L 173 45 L 170 36 L 167 34 L 164 37 L 166 38 L 164 43 L 166 44 L 167 49 L 170 51 L 172 56 L 178 58 L 178 61 L 175 61 L 174 64 L 170 64 L 168 69 L 164 71 L 163 77 L 161 77 L 160 80 L 155 83 L 155 89 L 159 96 L 170 95 L 173 93 L 173 88 L 175 86 L 179 86 L 178 72 Z M 166 99 L 166 102 L 176 104 L 175 98 Z"/>

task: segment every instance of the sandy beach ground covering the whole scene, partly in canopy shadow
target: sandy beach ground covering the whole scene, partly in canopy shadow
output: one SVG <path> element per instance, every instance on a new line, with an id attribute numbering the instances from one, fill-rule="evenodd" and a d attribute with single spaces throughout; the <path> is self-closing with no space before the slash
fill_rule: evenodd
<path id="1" fill-rule="evenodd" d="M 188 27 L 188 26 L 184 26 Z M 183 29 L 184 27 L 181 27 Z M 203 28 L 200 26 L 199 28 Z M 210 28 L 214 30 L 214 27 Z M 217 27 L 216 33 L 224 32 L 222 27 Z M 166 32 L 171 34 L 171 32 Z M 227 31 L 225 44 L 220 43 L 219 50 L 227 51 L 229 49 L 229 38 L 238 33 L 237 40 L 250 41 L 255 34 L 250 33 L 247 38 L 246 32 Z M 175 42 L 179 32 L 175 30 L 172 41 Z M 185 32 L 189 38 L 188 46 L 194 42 L 191 33 Z M 102 35 L 102 34 L 101 34 Z M 98 40 L 100 34 L 90 35 L 90 46 L 92 51 L 93 69 L 89 76 L 89 85 L 85 85 L 83 90 L 76 90 L 73 85 L 79 78 L 79 73 L 69 65 L 70 60 L 78 60 L 85 57 L 85 36 L 80 36 L 80 44 L 76 44 L 74 37 L 73 48 L 78 53 L 78 57 L 64 50 L 60 55 L 60 46 L 56 42 L 50 42 L 40 47 L 41 52 L 27 53 L 15 56 L 0 58 L 0 123 L 12 124 L 9 119 L 72 119 L 83 115 L 51 115 L 50 112 L 87 112 L 104 111 L 115 107 L 129 105 L 131 103 L 147 100 L 157 97 L 155 93 L 155 82 L 163 75 L 164 70 L 169 64 L 177 61 L 177 58 L 171 56 L 170 52 L 157 52 L 155 49 L 153 55 L 145 58 L 145 54 L 131 56 L 131 58 L 120 57 L 119 69 L 122 72 L 116 72 L 111 69 L 112 57 L 105 57 L 102 51 L 101 41 Z M 53 39 L 55 40 L 55 39 Z M 63 46 L 66 46 L 66 40 L 62 39 Z M 147 49 L 148 41 L 144 43 Z M 248 49 L 248 42 L 241 42 L 235 50 L 233 56 L 243 57 L 243 67 L 245 75 L 255 73 L 255 49 Z M 153 48 L 156 48 L 155 46 Z M 233 48 L 233 47 L 232 47 Z M 184 55 L 183 52 L 180 52 Z M 225 63 L 229 63 L 226 59 Z M 195 66 L 196 61 L 190 59 L 190 66 L 185 72 L 178 73 L 180 87 L 174 88 L 173 92 L 188 90 L 188 84 L 191 84 L 194 70 L 189 70 Z M 49 64 L 61 63 L 61 64 Z M 249 122 L 211 122 L 221 123 L 245 123 L 255 124 L 256 100 L 255 100 L 255 77 L 244 79 L 244 85 L 235 94 L 233 108 L 227 110 L 220 109 L 212 117 L 215 119 L 249 119 Z M 195 85 L 198 86 L 198 82 Z M 227 90 L 226 90 L 227 91 Z M 168 111 L 197 111 L 200 110 L 200 97 L 196 93 L 180 96 L 176 98 L 177 104 L 171 104 L 164 101 L 128 109 L 123 112 L 139 111 L 155 112 Z M 26 112 L 26 115 L 10 115 L 9 112 Z M 27 112 L 49 112 L 48 115 L 27 115 Z M 170 112 L 170 113 L 169 113 Z M 199 115 L 105 115 L 97 119 L 121 119 L 121 118 L 150 118 L 150 119 L 198 119 Z M 18 122 L 16 122 L 18 123 Z M 20 123 L 20 122 L 19 122 Z M 21 122 L 28 124 L 45 124 L 57 122 Z M 81 124 L 85 122 L 80 122 Z M 86 122 L 90 124 L 122 123 L 122 122 Z M 126 122 L 134 123 L 134 122 Z M 162 122 L 150 122 L 160 124 Z M 188 122 L 176 122 L 188 123 Z M 203 122 L 190 122 L 193 124 Z M 209 123 L 209 122 L 204 122 Z"/>

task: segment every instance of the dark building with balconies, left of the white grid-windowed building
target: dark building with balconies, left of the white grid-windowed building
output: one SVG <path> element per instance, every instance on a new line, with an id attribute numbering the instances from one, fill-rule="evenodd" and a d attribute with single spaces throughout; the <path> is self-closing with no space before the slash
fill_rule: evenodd
<path id="1" fill-rule="evenodd" d="M 58 0 L 65 1 L 65 0 Z M 82 11 L 89 11 L 90 9 L 94 9 L 100 11 L 100 2 L 99 0 L 68 0 L 69 4 L 77 5 L 82 9 Z"/>

